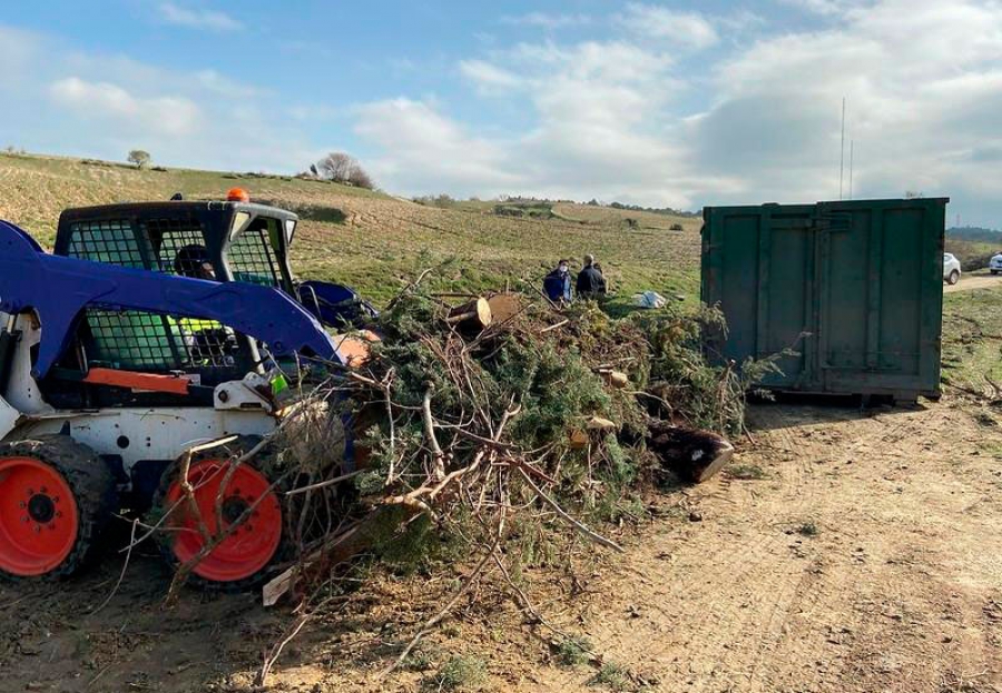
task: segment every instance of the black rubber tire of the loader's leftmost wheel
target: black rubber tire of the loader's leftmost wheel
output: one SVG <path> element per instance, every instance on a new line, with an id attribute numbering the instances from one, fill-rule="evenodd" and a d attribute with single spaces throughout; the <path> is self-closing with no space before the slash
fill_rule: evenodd
<path id="1" fill-rule="evenodd" d="M 69 555 L 45 575 L 26 577 L 0 570 L 9 580 L 63 580 L 85 567 L 96 555 L 98 538 L 118 511 L 115 476 L 88 446 L 60 434 L 0 443 L 0 457 L 32 457 L 55 468 L 77 502 L 77 541 Z"/>

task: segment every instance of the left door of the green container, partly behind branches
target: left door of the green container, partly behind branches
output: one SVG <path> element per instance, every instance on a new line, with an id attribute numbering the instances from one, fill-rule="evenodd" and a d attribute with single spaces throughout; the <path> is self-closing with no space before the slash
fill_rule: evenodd
<path id="1" fill-rule="evenodd" d="M 816 379 L 814 211 L 766 205 L 706 214 L 703 296 L 727 320 L 726 339 L 708 339 L 710 356 L 777 358 L 782 373 L 765 386 L 806 389 Z"/>

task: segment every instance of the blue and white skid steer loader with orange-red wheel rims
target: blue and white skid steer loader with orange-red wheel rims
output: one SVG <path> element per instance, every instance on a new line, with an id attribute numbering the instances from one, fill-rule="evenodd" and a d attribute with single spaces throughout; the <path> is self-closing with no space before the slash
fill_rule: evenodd
<path id="1" fill-rule="evenodd" d="M 114 513 L 163 517 L 191 489 L 199 513 L 175 513 L 167 558 L 198 561 L 204 586 L 267 576 L 282 494 L 230 461 L 278 427 L 282 364 L 352 365 L 364 344 L 324 326 L 375 315 L 351 289 L 294 279 L 297 221 L 243 190 L 71 209 L 53 254 L 0 221 L 0 575 L 68 576 Z"/>

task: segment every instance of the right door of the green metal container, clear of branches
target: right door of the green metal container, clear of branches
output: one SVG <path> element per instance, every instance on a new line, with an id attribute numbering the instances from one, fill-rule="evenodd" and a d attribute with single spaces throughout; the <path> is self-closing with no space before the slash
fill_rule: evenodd
<path id="1" fill-rule="evenodd" d="M 939 386 L 942 200 L 828 202 L 848 232 L 818 247 L 826 392 L 926 394 Z"/>

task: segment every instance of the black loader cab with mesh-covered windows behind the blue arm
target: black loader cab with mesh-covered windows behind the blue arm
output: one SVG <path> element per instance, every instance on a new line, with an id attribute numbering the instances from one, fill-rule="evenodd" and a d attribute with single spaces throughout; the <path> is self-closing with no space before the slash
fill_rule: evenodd
<path id="1" fill-rule="evenodd" d="M 244 281 L 294 290 L 288 245 L 296 215 L 239 200 L 106 205 L 62 212 L 55 255 L 197 279 Z M 100 366 L 150 374 L 185 373 L 212 387 L 257 368 L 254 339 L 212 320 L 135 310 L 88 308 L 76 348 L 42 385 L 61 407 L 197 404 L 161 393 L 75 384 L 72 374 Z M 70 374 L 70 377 L 66 377 Z M 61 377 L 60 377 L 61 376 Z"/>

